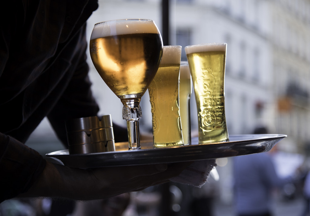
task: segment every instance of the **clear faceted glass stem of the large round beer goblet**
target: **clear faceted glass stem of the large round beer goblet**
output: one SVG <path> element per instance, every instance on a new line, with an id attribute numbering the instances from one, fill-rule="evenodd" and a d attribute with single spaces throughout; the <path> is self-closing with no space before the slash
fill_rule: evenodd
<path id="1" fill-rule="evenodd" d="M 142 110 L 140 99 L 129 99 L 123 102 L 123 119 L 127 121 L 129 150 L 140 149 L 139 119 Z"/>

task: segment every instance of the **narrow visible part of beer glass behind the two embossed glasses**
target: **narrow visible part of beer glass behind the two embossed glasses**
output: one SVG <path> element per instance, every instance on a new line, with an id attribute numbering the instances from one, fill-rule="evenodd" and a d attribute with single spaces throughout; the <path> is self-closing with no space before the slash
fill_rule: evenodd
<path id="1" fill-rule="evenodd" d="M 179 101 L 184 145 L 191 144 L 190 98 L 192 94 L 192 77 L 188 62 L 181 61 Z"/>

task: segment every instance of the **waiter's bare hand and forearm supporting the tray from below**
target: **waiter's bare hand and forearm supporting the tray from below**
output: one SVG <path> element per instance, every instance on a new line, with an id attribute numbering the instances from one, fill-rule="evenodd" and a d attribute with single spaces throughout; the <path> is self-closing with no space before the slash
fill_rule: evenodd
<path id="1" fill-rule="evenodd" d="M 77 169 L 47 162 L 38 180 L 20 197 L 97 200 L 169 182 L 190 162 Z"/>

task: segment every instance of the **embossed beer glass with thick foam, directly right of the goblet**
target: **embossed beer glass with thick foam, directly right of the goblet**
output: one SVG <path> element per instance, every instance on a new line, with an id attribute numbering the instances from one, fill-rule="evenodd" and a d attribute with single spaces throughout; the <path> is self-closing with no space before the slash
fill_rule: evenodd
<path id="1" fill-rule="evenodd" d="M 183 146 L 179 110 L 181 46 L 164 46 L 157 74 L 148 87 L 154 148 Z"/>

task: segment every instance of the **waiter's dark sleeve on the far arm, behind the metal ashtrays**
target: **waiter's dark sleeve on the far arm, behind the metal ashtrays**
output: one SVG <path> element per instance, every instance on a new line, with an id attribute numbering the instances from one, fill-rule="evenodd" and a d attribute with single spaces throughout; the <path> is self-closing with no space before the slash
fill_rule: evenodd
<path id="1" fill-rule="evenodd" d="M 97 115 L 97 105 L 92 92 L 91 82 L 88 77 L 88 65 L 86 62 L 86 25 L 80 29 L 81 39 L 78 43 L 68 44 L 76 49 L 79 47 L 80 56 L 71 62 L 74 74 L 53 110 L 47 116 L 58 138 L 67 146 L 65 121 L 73 118 L 82 118 Z"/>

